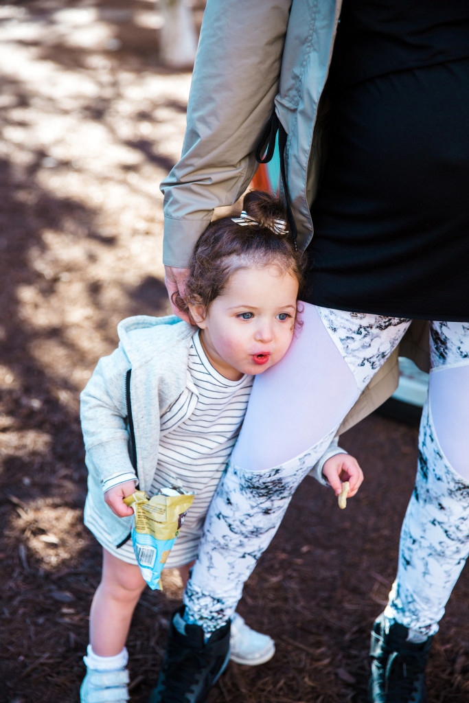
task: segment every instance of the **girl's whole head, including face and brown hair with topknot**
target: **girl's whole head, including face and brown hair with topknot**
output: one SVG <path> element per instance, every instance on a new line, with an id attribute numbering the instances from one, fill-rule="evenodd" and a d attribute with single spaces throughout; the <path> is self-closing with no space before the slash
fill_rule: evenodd
<path id="1" fill-rule="evenodd" d="M 280 200 L 252 191 L 241 217 L 210 223 L 195 245 L 186 302 L 220 373 L 262 373 L 290 346 L 304 269 Z"/>

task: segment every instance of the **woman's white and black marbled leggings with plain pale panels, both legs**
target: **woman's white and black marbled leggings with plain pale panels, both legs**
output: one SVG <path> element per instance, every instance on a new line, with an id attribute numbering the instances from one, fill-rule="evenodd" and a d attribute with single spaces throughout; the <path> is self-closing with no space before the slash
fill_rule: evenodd
<path id="1" fill-rule="evenodd" d="M 208 633 L 233 614 L 290 498 L 411 323 L 304 304 L 285 358 L 257 376 L 184 602 Z M 418 472 L 386 614 L 435 633 L 469 551 L 469 323 L 430 323 Z M 392 471 L 392 459 L 390 459 Z"/>

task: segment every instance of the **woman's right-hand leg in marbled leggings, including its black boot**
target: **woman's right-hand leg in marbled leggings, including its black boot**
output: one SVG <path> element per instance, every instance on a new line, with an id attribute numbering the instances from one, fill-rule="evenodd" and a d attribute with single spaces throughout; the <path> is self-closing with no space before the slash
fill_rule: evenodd
<path id="1" fill-rule="evenodd" d="M 432 323 L 430 385 L 397 577 L 371 635 L 369 698 L 420 703 L 432 636 L 469 553 L 469 325 Z"/>

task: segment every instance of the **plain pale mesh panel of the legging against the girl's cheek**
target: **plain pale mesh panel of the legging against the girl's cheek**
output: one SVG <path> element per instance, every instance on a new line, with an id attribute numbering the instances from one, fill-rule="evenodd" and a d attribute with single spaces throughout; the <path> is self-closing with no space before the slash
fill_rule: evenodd
<path id="1" fill-rule="evenodd" d="M 335 429 L 358 395 L 316 307 L 304 304 L 287 354 L 255 379 L 233 462 L 253 470 L 285 463 Z"/>

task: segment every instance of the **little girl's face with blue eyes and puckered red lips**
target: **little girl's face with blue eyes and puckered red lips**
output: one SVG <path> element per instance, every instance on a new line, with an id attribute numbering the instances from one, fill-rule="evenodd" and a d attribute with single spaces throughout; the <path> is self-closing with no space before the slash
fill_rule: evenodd
<path id="1" fill-rule="evenodd" d="M 212 366 L 225 378 L 257 375 L 280 361 L 295 328 L 298 282 L 278 266 L 240 269 L 205 316 L 193 318 Z"/>

